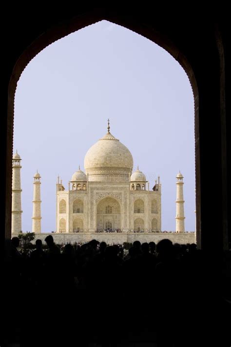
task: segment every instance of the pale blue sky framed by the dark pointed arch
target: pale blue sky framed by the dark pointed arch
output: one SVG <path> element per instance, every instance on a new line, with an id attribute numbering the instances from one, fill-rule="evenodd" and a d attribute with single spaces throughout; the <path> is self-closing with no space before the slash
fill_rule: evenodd
<path id="1" fill-rule="evenodd" d="M 184 175 L 185 226 L 195 228 L 193 92 L 183 68 L 142 36 L 101 21 L 61 39 L 25 68 L 15 96 L 14 152 L 22 158 L 22 229 L 32 229 L 33 175 L 41 175 L 42 231 L 56 230 L 56 181 L 66 189 L 107 131 L 134 165 L 162 183 L 162 230 L 175 229 L 175 176 Z"/>

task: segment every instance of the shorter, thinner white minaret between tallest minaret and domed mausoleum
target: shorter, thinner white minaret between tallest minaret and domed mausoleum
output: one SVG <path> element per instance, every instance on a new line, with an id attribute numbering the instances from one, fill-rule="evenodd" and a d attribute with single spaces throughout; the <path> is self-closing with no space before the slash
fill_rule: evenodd
<path id="1" fill-rule="evenodd" d="M 40 198 L 40 178 L 37 170 L 34 176 L 34 196 L 33 196 L 33 217 L 32 217 L 32 232 L 41 232 L 41 198 Z"/>

